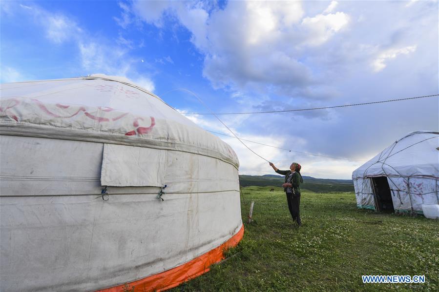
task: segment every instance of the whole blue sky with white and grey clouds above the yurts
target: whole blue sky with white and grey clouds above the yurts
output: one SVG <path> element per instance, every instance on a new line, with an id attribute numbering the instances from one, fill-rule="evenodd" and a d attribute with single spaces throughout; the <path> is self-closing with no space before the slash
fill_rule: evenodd
<path id="1" fill-rule="evenodd" d="M 207 113 L 206 106 L 215 113 L 278 111 L 439 93 L 438 1 L 0 5 L 1 83 L 123 76 L 200 127 L 229 136 L 215 117 L 188 113 Z M 438 131 L 438 113 L 438 97 L 428 97 L 218 117 L 237 136 L 278 147 L 244 141 L 279 169 L 294 161 L 302 175 L 349 179 L 407 133 Z M 241 175 L 273 174 L 239 140 L 215 135 L 237 153 Z"/>

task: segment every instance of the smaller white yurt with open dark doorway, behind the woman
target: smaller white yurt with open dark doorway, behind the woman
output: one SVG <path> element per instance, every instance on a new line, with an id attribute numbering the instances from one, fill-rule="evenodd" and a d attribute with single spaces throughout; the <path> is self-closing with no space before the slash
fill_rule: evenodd
<path id="1" fill-rule="evenodd" d="M 407 134 L 352 173 L 358 208 L 422 214 L 439 204 L 439 132 Z"/>

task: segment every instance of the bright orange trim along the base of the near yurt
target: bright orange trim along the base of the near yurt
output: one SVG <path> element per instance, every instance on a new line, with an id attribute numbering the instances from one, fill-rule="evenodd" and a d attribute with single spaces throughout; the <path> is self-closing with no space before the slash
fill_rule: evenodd
<path id="1" fill-rule="evenodd" d="M 228 241 L 219 247 L 194 258 L 187 263 L 167 270 L 162 273 L 154 274 L 143 279 L 125 283 L 119 286 L 99 290 L 98 292 L 122 292 L 125 290 L 137 291 L 165 291 L 180 285 L 192 278 L 209 272 L 209 266 L 224 259 L 224 252 L 230 247 L 236 246 L 244 236 L 244 225 L 239 232 L 233 235 Z"/>

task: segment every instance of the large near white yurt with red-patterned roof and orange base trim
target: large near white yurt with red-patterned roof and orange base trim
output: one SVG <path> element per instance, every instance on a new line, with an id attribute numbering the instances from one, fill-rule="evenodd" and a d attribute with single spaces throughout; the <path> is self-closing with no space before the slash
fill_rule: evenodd
<path id="1" fill-rule="evenodd" d="M 128 79 L 0 100 L 2 292 L 166 290 L 242 238 L 234 151 Z"/>

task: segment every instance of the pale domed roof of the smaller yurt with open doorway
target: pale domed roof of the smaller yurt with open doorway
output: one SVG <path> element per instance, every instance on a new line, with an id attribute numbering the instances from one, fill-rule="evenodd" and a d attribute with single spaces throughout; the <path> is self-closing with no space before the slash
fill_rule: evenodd
<path id="1" fill-rule="evenodd" d="M 439 177 L 439 132 L 409 133 L 352 173 L 353 179 L 373 176 Z"/>

